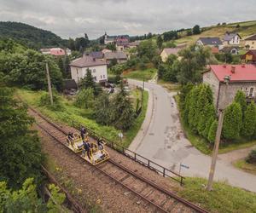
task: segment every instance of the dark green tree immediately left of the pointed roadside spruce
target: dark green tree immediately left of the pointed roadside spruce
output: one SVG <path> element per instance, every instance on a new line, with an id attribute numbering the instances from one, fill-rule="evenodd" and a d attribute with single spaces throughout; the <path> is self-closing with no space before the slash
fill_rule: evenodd
<path id="1" fill-rule="evenodd" d="M 109 125 L 112 123 L 111 110 L 112 105 L 109 101 L 107 93 L 103 92 L 96 99 L 94 106 L 94 116 L 96 122 L 103 125 Z"/>

